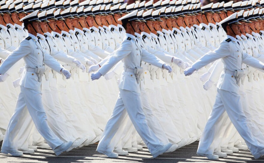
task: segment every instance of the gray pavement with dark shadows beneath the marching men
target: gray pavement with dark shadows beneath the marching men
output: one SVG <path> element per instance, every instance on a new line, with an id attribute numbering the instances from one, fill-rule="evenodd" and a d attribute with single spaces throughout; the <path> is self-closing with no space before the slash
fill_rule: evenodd
<path id="1" fill-rule="evenodd" d="M 1 143 L 0 143 L 1 146 Z M 249 150 L 236 152 L 233 155 L 228 155 L 227 158 L 221 158 L 216 161 L 210 161 L 205 157 L 199 157 L 196 155 L 196 149 L 198 142 L 194 142 L 188 146 L 184 146 L 172 153 L 167 153 L 153 159 L 148 149 L 144 148 L 139 152 L 129 153 L 127 156 L 119 156 L 119 158 L 107 158 L 96 152 L 97 144 L 92 144 L 80 149 L 73 149 L 70 152 L 63 153 L 60 156 L 55 156 L 51 149 L 38 149 L 34 154 L 24 154 L 22 157 L 12 157 L 10 155 L 4 155 L 0 153 L 0 163 L 4 162 L 49 162 L 49 163 L 70 163 L 70 162 L 146 162 L 146 163 L 167 163 L 167 162 L 234 162 L 234 163 L 264 163 L 264 159 L 255 160 L 250 154 Z"/>

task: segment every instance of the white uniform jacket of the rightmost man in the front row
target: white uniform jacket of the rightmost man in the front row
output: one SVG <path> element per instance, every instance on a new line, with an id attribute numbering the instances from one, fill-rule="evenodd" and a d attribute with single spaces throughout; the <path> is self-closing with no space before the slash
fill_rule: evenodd
<path id="1" fill-rule="evenodd" d="M 243 53 L 237 40 L 229 35 L 227 35 L 227 38 L 220 43 L 216 50 L 206 53 L 203 57 L 193 63 L 192 66 L 198 70 L 220 58 L 224 64 L 224 72 L 221 73 L 217 88 L 225 91 L 238 92 L 239 86 L 236 84 L 234 74 L 231 74 L 230 72 L 235 72 L 235 70 L 241 69 L 242 62 L 258 69 L 262 69 L 264 66 L 259 60 Z"/>

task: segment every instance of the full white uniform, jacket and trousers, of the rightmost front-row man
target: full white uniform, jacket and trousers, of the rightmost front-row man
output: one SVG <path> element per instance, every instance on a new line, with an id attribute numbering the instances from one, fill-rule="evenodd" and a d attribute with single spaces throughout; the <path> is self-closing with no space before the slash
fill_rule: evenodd
<path id="1" fill-rule="evenodd" d="M 222 72 L 217 84 L 216 101 L 200 139 L 197 153 L 213 154 L 212 141 L 216 141 L 216 136 L 221 129 L 217 124 L 226 111 L 254 158 L 259 158 L 264 153 L 264 145 L 257 142 L 247 126 L 247 118 L 241 105 L 240 95 L 238 94 L 239 86 L 236 83 L 234 72 L 241 69 L 242 62 L 259 69 L 262 69 L 264 64 L 245 53 L 243 54 L 237 40 L 227 35 L 226 40 L 220 43 L 217 50 L 205 54 L 193 63 L 193 67 L 198 70 L 220 58 L 224 63 L 224 72 Z M 217 141 L 217 143 L 220 143 L 220 141 Z"/>

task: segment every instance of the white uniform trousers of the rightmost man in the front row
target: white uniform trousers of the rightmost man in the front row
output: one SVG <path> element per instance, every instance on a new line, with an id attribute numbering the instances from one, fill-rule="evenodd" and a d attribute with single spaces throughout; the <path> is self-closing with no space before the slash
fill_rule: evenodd
<path id="1" fill-rule="evenodd" d="M 225 111 L 238 133 L 245 140 L 252 155 L 255 158 L 259 158 L 259 152 L 263 152 L 261 150 L 264 149 L 264 146 L 258 143 L 247 126 L 247 118 L 243 112 L 240 95 L 238 92 L 230 92 L 220 89 L 217 89 L 216 100 L 211 115 L 209 116 L 205 129 L 202 133 L 197 152 L 213 154 L 216 144 L 212 144 L 212 142 L 214 141 L 220 143 L 220 137 L 217 137 L 219 135 L 218 131 L 221 130 L 219 121 L 221 121 Z M 215 141 L 215 139 L 219 139 L 219 142 Z"/>

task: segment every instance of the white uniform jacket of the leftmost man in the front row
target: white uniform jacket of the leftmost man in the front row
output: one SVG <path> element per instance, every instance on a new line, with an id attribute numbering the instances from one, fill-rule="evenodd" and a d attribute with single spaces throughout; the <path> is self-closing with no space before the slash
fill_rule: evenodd
<path id="1" fill-rule="evenodd" d="M 45 53 L 43 47 L 38 42 L 38 38 L 32 34 L 24 39 L 18 48 L 13 51 L 0 66 L 0 74 L 4 74 L 11 66 L 13 66 L 21 58 L 25 61 L 26 68 L 43 66 L 43 64 L 61 73 L 61 66 L 53 57 Z M 41 91 L 41 82 L 35 72 L 23 71 L 19 85 L 29 89 Z"/>

